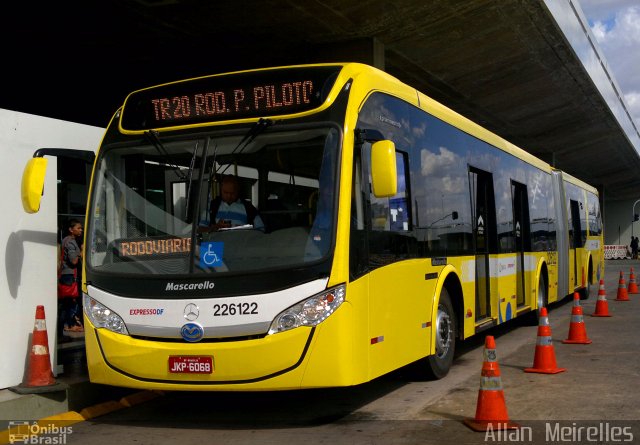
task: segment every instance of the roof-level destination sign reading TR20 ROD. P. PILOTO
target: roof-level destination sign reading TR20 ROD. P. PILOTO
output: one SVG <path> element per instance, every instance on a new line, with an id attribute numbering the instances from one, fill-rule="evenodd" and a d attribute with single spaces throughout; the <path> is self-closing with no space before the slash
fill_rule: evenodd
<path id="1" fill-rule="evenodd" d="M 210 76 L 132 93 L 121 126 L 140 131 L 318 108 L 340 67 L 289 68 Z"/>

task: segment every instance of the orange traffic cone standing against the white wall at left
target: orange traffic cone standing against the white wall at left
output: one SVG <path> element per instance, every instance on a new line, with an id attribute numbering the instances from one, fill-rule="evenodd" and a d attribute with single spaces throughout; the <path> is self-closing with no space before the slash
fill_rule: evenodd
<path id="1" fill-rule="evenodd" d="M 51 372 L 49 358 L 49 336 L 47 322 L 44 317 L 44 306 L 36 307 L 36 321 L 33 326 L 29 354 L 29 367 L 25 380 L 18 386 L 10 388 L 20 394 L 62 391 L 68 388 L 64 383 L 57 383 Z"/>

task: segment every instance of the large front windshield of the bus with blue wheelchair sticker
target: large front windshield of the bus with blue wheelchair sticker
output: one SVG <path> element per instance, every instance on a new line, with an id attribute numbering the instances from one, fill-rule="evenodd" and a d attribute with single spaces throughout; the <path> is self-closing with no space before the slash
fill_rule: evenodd
<path id="1" fill-rule="evenodd" d="M 256 125 L 233 134 L 146 132 L 102 147 L 88 268 L 141 275 L 247 273 L 327 256 L 340 130 L 278 124 L 256 131 Z M 237 178 L 238 199 L 258 213 L 247 224 L 212 230 L 224 175 Z"/>

